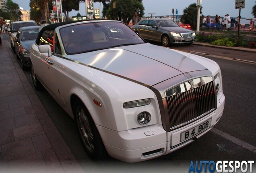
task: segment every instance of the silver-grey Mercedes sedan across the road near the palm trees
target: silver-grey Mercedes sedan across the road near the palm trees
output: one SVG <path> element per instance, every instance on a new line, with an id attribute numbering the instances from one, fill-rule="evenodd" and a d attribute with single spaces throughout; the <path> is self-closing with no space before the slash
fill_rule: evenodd
<path id="1" fill-rule="evenodd" d="M 161 42 L 163 46 L 170 44 L 192 44 L 196 39 L 194 31 L 182 28 L 169 19 L 154 18 L 141 20 L 132 26 L 145 40 Z"/>

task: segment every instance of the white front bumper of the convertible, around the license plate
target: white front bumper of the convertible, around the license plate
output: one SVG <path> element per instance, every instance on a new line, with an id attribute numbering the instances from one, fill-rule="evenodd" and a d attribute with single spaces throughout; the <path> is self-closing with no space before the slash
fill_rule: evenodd
<path id="1" fill-rule="evenodd" d="M 210 131 L 223 114 L 225 96 L 222 94 L 219 98 L 217 109 L 215 111 L 193 123 L 170 131 L 169 133 L 163 129 L 162 125 L 151 125 L 121 132 L 112 131 L 101 126 L 97 126 L 97 129 L 101 134 L 105 148 L 111 157 L 126 162 L 149 160 L 180 149 Z M 211 119 L 211 125 L 208 129 L 186 141 L 180 142 L 180 135 L 182 132 L 200 125 L 207 119 Z M 111 137 L 111 140 L 109 137 Z"/>

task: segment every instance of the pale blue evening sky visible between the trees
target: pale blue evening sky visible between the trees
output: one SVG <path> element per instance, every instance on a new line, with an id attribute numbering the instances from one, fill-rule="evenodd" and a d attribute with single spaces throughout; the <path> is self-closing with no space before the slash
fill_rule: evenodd
<path id="1" fill-rule="evenodd" d="M 29 7 L 30 0 L 12 0 L 19 4 L 19 7 L 22 7 L 24 10 L 30 10 Z M 245 8 L 241 9 L 242 18 L 253 17 L 252 7 L 256 5 L 256 0 L 244 0 Z M 183 14 L 183 10 L 188 7 L 190 4 L 196 3 L 196 0 L 142 0 L 143 6 L 145 8 L 145 16 L 150 16 L 149 13 L 156 13 L 155 16 L 168 16 L 172 15 L 171 9 L 178 10 L 178 15 Z M 94 3 L 94 8 L 103 8 L 103 4 L 99 2 Z M 85 3 L 80 3 L 79 11 L 70 12 L 69 16 L 76 16 L 77 13 L 81 15 L 86 15 L 85 13 Z M 239 10 L 235 9 L 235 0 L 202 0 L 202 14 L 215 16 L 224 16 L 229 14 L 231 17 L 237 17 L 239 15 Z"/>

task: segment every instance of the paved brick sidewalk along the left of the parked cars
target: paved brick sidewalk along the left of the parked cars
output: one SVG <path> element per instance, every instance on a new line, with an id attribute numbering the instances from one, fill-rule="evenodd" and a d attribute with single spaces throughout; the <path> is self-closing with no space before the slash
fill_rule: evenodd
<path id="1" fill-rule="evenodd" d="M 9 42 L 0 45 L 0 173 L 83 173 Z"/>

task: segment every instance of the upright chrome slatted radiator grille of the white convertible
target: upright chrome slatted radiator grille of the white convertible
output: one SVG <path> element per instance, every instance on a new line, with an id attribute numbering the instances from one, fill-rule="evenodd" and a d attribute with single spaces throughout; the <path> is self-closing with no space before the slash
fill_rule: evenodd
<path id="1" fill-rule="evenodd" d="M 197 87 L 191 81 L 180 85 L 189 85 L 190 89 L 173 93 L 177 91 L 176 87 L 171 89 L 171 95 L 166 97 L 170 129 L 203 117 L 217 107 L 214 81 Z"/>

